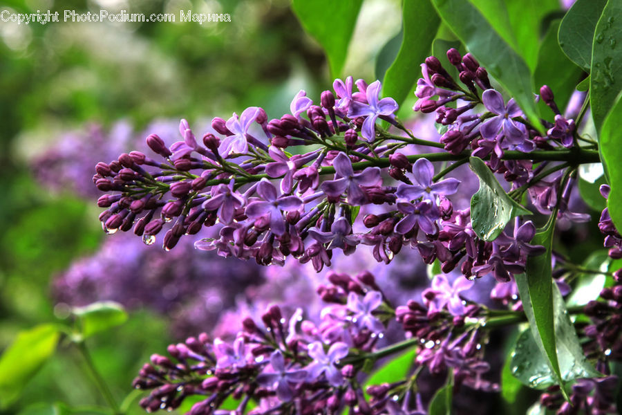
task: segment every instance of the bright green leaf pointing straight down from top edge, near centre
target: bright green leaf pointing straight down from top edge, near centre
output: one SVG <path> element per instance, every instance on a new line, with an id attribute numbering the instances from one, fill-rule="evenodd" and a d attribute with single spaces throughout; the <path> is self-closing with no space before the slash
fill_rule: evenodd
<path id="1" fill-rule="evenodd" d="M 361 3 L 363 0 L 293 0 L 292 8 L 303 28 L 326 52 L 332 77 L 341 76 Z"/>

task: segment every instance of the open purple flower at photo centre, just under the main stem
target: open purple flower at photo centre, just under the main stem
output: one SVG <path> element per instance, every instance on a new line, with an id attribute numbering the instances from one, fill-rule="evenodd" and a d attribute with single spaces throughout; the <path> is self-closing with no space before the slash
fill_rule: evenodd
<path id="1" fill-rule="evenodd" d="M 380 180 L 378 167 L 367 167 L 361 173 L 355 174 L 352 161 L 346 154 L 339 153 L 332 161 L 336 172 L 335 179 L 322 183 L 322 190 L 328 196 L 338 198 L 347 191 L 348 201 L 352 205 L 364 205 L 367 201 L 361 186 L 373 186 Z"/>

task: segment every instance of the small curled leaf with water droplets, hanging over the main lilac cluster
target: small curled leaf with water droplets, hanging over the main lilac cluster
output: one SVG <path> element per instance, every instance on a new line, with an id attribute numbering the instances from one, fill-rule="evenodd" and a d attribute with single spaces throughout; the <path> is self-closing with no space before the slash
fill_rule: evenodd
<path id="1" fill-rule="evenodd" d="M 481 158 L 469 158 L 469 166 L 480 179 L 480 190 L 471 197 L 473 231 L 480 239 L 493 241 L 510 219 L 531 212 L 507 195 Z"/>

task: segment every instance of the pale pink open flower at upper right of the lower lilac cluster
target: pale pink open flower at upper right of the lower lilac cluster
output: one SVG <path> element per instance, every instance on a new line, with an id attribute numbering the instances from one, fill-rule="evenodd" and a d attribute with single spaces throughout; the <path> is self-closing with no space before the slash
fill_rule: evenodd
<path id="1" fill-rule="evenodd" d="M 422 297 L 429 311 L 440 311 L 446 306 L 452 315 L 463 315 L 464 304 L 462 304 L 460 293 L 469 290 L 472 286 L 473 282 L 462 275 L 458 276 L 453 284 L 449 284 L 447 276 L 439 274 L 432 280 L 431 288 L 427 288 L 422 293 Z"/>

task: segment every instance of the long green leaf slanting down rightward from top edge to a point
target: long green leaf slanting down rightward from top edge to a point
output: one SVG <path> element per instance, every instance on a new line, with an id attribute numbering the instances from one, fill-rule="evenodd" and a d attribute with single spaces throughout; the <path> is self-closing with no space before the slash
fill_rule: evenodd
<path id="1" fill-rule="evenodd" d="M 432 0 L 438 14 L 484 68 L 520 105 L 535 126 L 540 125 L 531 73 L 525 60 L 494 30 L 469 1 Z"/>

